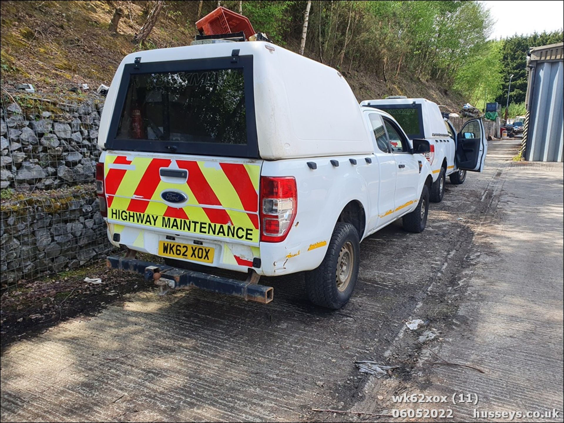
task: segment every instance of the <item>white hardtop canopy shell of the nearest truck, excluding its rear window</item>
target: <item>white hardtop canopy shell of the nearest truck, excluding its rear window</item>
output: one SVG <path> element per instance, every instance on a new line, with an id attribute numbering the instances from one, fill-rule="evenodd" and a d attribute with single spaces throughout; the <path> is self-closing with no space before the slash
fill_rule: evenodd
<path id="1" fill-rule="evenodd" d="M 259 154 L 285 159 L 373 152 L 360 106 L 336 69 L 261 41 L 199 44 L 127 55 L 114 75 L 100 122 L 103 148 L 124 65 L 187 59 L 253 56 L 254 107 Z M 119 110 L 115 111 L 120 113 Z"/>

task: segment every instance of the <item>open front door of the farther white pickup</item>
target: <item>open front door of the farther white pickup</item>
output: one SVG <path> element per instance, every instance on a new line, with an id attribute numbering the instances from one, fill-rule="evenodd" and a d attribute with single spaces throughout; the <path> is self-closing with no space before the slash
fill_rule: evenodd
<path id="1" fill-rule="evenodd" d="M 488 142 L 482 119 L 472 119 L 456 136 L 456 166 L 471 172 L 482 172 Z"/>

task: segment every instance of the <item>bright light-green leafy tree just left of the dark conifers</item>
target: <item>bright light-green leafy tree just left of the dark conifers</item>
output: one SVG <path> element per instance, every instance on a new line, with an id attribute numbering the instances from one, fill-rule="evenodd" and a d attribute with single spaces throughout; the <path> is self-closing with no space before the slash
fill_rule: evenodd
<path id="1" fill-rule="evenodd" d="M 485 103 L 493 101 L 501 92 L 502 47 L 501 41 L 478 44 L 455 75 L 453 87 L 464 94 L 466 99 L 478 109 L 484 109 Z"/>

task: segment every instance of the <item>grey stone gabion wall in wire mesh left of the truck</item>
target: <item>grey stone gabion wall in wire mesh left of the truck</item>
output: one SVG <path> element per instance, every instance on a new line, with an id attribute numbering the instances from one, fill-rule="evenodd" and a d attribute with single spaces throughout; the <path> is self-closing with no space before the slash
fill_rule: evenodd
<path id="1" fill-rule="evenodd" d="M 112 248 L 95 194 L 103 97 L 14 92 L 0 104 L 2 287 Z"/>

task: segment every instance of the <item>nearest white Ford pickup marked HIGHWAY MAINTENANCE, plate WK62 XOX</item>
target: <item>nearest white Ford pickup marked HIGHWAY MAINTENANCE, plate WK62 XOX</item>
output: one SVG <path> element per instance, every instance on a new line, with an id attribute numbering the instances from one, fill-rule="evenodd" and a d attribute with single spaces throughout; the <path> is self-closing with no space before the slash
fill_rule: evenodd
<path id="1" fill-rule="evenodd" d="M 429 143 L 361 108 L 337 70 L 269 42 L 126 56 L 98 143 L 108 237 L 126 250 L 108 265 L 161 293 L 198 287 L 267 303 L 261 276 L 306 271 L 310 300 L 338 309 L 365 237 L 400 217 L 408 231 L 425 228 Z"/>

